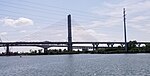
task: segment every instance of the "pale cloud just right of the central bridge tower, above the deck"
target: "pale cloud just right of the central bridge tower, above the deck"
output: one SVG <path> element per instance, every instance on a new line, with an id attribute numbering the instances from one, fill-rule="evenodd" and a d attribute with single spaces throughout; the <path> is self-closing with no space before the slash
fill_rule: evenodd
<path id="1" fill-rule="evenodd" d="M 99 38 L 106 38 L 107 34 L 105 33 L 97 33 L 96 30 L 92 28 L 86 28 L 82 26 L 75 25 L 72 30 L 73 33 L 73 41 L 100 41 Z"/>

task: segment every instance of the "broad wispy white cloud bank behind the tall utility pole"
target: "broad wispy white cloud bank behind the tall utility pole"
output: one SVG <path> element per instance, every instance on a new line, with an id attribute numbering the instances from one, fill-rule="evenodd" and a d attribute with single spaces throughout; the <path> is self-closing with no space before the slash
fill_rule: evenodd
<path id="1" fill-rule="evenodd" d="M 110 36 L 109 40 L 113 40 L 114 37 L 117 41 L 121 40 L 123 37 L 123 8 L 126 8 L 129 40 L 132 40 L 130 38 L 141 40 L 142 38 L 139 36 L 134 36 L 138 34 L 137 32 L 141 33 L 141 37 L 150 33 L 150 0 L 119 0 L 117 3 L 107 0 L 103 5 L 94 7 L 92 11 L 100 20 L 93 20 L 84 24 L 89 29 L 99 29 L 98 32 Z M 95 33 L 98 34 L 98 32 Z"/>

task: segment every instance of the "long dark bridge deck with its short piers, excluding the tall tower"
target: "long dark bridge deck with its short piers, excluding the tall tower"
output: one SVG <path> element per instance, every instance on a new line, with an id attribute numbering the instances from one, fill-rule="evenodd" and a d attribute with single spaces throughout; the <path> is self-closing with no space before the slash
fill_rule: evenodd
<path id="1" fill-rule="evenodd" d="M 72 44 L 90 44 L 89 46 L 72 46 L 72 49 L 93 49 L 97 50 L 98 48 L 114 48 L 114 45 L 120 45 L 124 47 L 125 42 L 72 42 Z M 100 44 L 105 44 L 107 46 L 99 46 Z M 136 45 L 138 47 L 142 47 L 140 45 L 150 44 L 150 42 L 137 42 Z M 47 53 L 48 48 L 50 47 L 68 47 L 68 42 L 0 42 L 0 47 L 6 47 L 6 55 L 9 55 L 9 47 L 10 46 L 35 46 L 41 47 L 44 49 L 44 52 Z"/>

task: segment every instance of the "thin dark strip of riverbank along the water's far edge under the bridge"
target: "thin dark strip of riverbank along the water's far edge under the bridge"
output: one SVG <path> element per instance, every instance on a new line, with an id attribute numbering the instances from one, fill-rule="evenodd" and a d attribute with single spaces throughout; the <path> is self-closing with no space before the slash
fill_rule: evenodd
<path id="1" fill-rule="evenodd" d="M 51 53 L 10 53 L 6 55 L 5 53 L 0 54 L 0 56 L 34 56 L 34 55 L 68 55 L 68 54 L 140 54 L 140 53 L 150 53 L 150 51 L 72 51 L 72 52 L 51 52 Z"/>

